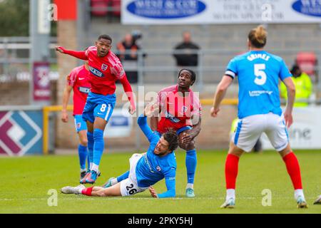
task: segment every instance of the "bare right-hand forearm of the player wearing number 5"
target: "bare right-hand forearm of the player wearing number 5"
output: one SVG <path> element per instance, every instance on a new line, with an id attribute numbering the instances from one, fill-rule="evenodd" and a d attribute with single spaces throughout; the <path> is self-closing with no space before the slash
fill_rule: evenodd
<path id="1" fill-rule="evenodd" d="M 287 107 L 284 112 L 285 125 L 287 125 L 287 128 L 290 128 L 290 125 L 293 123 L 292 110 L 295 103 L 295 83 L 293 83 L 291 77 L 285 78 L 283 83 L 287 87 Z"/>

